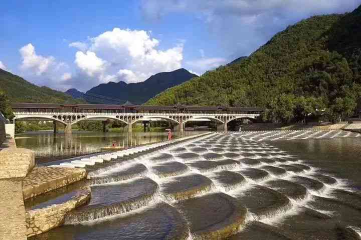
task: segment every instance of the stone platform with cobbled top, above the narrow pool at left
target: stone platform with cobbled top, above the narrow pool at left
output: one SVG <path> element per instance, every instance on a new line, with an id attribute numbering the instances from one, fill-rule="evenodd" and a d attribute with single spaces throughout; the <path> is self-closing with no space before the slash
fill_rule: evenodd
<path id="1" fill-rule="evenodd" d="M 81 168 L 36 166 L 23 180 L 24 199 L 69 185 L 86 175 Z"/>

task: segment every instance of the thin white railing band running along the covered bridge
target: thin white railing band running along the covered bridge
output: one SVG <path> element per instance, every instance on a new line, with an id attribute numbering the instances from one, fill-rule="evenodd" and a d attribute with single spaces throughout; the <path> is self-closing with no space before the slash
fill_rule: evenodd
<path id="1" fill-rule="evenodd" d="M 106 113 L 106 112 L 14 112 L 15 115 L 107 115 L 107 116 L 259 116 L 259 113 Z"/>

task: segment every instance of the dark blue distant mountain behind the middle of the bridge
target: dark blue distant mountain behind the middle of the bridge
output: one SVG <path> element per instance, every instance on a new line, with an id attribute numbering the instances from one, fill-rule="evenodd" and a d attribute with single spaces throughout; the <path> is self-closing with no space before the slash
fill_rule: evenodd
<path id="1" fill-rule="evenodd" d="M 159 92 L 183 83 L 192 77 L 197 77 L 197 75 L 184 68 L 180 68 L 170 72 L 157 73 L 143 82 L 127 84 L 124 81 L 110 81 L 108 83 L 102 83 L 87 91 L 85 96 L 92 96 L 91 99 L 93 99 L 93 101 L 97 100 L 94 96 L 105 96 L 110 99 L 116 99 L 117 101 L 125 102 L 129 100 L 132 103 L 141 104 Z M 85 99 L 87 98 L 85 97 Z"/>

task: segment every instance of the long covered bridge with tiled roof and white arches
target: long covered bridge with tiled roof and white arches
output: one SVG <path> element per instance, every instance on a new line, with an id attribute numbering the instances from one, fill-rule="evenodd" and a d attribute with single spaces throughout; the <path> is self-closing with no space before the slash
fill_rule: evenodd
<path id="1" fill-rule="evenodd" d="M 248 118 L 256 119 L 264 111 L 257 107 L 226 107 L 226 106 L 147 106 L 102 104 L 44 104 L 44 103 L 13 103 L 15 120 L 44 119 L 65 125 L 65 133 L 72 132 L 72 125 L 79 121 L 103 121 L 104 129 L 109 121 L 115 120 L 126 124 L 127 131 L 132 131 L 132 124 L 150 120 L 167 120 L 174 131 L 182 132 L 188 121 L 212 120 L 217 123 L 217 130 L 227 131 L 227 124 L 233 120 Z"/>

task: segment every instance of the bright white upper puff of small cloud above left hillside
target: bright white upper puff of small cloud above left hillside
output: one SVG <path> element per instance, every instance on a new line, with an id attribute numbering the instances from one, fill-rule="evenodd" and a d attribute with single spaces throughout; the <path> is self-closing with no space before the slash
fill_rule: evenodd
<path id="1" fill-rule="evenodd" d="M 35 47 L 31 43 L 20 48 L 20 53 L 23 57 L 21 68 L 23 70 L 34 71 L 37 75 L 42 75 L 55 63 L 53 56 L 44 57 L 37 55 Z"/>

